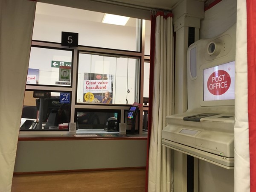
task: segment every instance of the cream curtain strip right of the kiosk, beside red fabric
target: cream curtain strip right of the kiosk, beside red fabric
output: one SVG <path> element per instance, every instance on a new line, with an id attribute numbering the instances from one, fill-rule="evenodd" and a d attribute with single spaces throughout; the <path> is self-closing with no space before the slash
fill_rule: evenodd
<path id="1" fill-rule="evenodd" d="M 250 192 L 246 1 L 237 1 L 235 87 L 235 192 Z"/>

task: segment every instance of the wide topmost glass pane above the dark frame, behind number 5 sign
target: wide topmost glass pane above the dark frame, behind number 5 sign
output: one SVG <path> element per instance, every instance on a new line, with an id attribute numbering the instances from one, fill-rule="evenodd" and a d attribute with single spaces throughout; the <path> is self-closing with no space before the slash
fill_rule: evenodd
<path id="1" fill-rule="evenodd" d="M 61 43 L 62 31 L 76 32 L 82 46 L 140 52 L 141 19 L 130 17 L 125 25 L 108 24 L 103 23 L 105 15 L 37 2 L 32 38 Z"/>

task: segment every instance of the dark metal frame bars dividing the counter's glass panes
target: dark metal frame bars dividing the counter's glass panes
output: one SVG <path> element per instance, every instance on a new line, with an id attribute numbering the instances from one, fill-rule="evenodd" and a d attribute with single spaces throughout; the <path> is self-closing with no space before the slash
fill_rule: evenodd
<path id="1" fill-rule="evenodd" d="M 95 104 L 78 104 L 76 102 L 77 98 L 77 76 L 78 76 L 78 61 L 79 61 L 79 52 L 93 52 L 95 54 L 104 54 L 104 55 L 120 55 L 124 57 L 131 57 L 131 58 L 140 58 L 140 70 L 139 70 L 139 79 L 137 83 L 139 84 L 139 103 L 143 105 L 143 78 L 144 78 L 144 62 L 145 60 L 148 61 L 150 56 L 144 55 L 144 46 L 145 46 L 145 20 L 141 22 L 141 38 L 140 42 L 140 51 L 126 51 L 126 50 L 117 50 L 117 49 L 107 49 L 101 47 L 89 47 L 89 46 L 79 46 L 79 47 L 70 47 L 67 48 L 65 46 L 61 46 L 60 43 L 53 43 L 53 42 L 46 42 L 46 41 L 36 41 L 32 40 L 31 47 L 41 47 L 47 49 L 63 49 L 63 50 L 72 50 L 72 79 L 70 86 L 58 86 L 58 85 L 36 85 L 36 84 L 26 84 L 26 90 L 33 90 L 33 91 L 53 91 L 53 92 L 70 92 L 72 95 L 71 103 L 70 103 L 70 122 L 75 122 L 75 111 L 78 109 L 93 109 L 93 110 L 105 110 L 110 109 L 113 110 L 120 110 L 120 123 L 124 123 L 123 119 L 125 117 L 125 111 L 129 109 L 130 105 L 126 104 L 111 104 L 111 105 L 95 105 Z M 148 106 L 143 106 L 138 113 L 138 120 L 139 120 L 139 134 L 143 133 L 143 111 L 148 111 Z M 21 130 L 20 130 L 21 131 Z M 40 130 L 41 134 L 53 134 L 55 131 L 49 130 Z M 32 130 L 26 131 L 22 130 L 21 133 L 23 134 L 32 134 Z M 36 131 L 39 132 L 38 130 Z M 61 131 L 56 131 L 58 134 Z M 67 133 L 67 131 L 63 131 L 63 133 Z M 35 133 L 34 133 L 35 134 Z"/>

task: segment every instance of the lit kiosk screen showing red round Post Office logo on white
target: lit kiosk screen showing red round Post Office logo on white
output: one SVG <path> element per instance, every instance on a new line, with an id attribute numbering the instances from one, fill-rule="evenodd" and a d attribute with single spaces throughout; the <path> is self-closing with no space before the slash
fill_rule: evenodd
<path id="1" fill-rule="evenodd" d="M 204 70 L 204 101 L 235 99 L 235 62 Z"/>

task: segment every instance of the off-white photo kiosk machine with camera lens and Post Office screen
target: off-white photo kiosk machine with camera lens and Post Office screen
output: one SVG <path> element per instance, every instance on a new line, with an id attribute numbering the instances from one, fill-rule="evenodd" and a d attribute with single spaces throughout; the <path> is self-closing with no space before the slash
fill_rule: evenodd
<path id="1" fill-rule="evenodd" d="M 188 49 L 188 110 L 166 117 L 162 144 L 234 167 L 236 24 Z"/>

